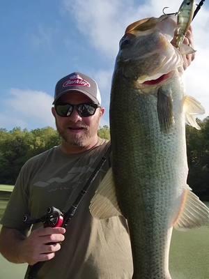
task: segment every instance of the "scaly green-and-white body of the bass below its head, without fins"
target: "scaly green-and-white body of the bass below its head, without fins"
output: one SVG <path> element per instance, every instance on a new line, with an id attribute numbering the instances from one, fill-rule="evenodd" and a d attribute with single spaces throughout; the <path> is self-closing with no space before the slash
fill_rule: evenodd
<path id="1" fill-rule="evenodd" d="M 133 278 L 169 279 L 171 232 L 187 179 L 182 113 L 176 110 L 171 130 L 162 133 L 156 94 L 130 92 L 131 84 L 114 82 L 110 106 L 113 173 L 118 204 L 130 228 Z M 179 89 L 175 82 L 168 86 Z M 174 105 L 180 98 L 173 94 Z"/>

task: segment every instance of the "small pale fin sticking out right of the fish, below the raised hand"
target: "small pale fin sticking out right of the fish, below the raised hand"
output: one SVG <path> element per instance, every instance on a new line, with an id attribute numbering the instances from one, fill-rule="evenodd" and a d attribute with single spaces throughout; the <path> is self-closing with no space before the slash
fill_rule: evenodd
<path id="1" fill-rule="evenodd" d="M 196 123 L 196 116 L 205 113 L 205 109 L 198 100 L 191 96 L 185 96 L 183 100 L 183 110 L 185 112 L 185 122 L 200 130 L 200 126 Z"/>

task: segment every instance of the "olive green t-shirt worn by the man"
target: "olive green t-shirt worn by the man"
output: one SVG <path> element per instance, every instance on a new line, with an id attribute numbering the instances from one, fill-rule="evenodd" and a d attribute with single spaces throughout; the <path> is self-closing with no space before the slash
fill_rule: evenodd
<path id="1" fill-rule="evenodd" d="M 25 214 L 40 218 L 49 206 L 61 211 L 69 209 L 107 148 L 108 143 L 100 140 L 98 146 L 84 153 L 67 155 L 60 146 L 55 146 L 31 158 L 21 169 L 1 219 L 2 225 L 27 233 L 30 228 L 22 221 Z M 125 218 L 114 216 L 97 220 L 88 209 L 108 168 L 109 160 L 68 223 L 61 250 L 54 259 L 45 262 L 37 279 L 132 278 L 132 254 Z"/>

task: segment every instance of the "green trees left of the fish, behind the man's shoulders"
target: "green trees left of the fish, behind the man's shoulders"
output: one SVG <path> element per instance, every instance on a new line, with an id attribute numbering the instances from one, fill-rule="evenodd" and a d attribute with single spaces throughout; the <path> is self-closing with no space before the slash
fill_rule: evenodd
<path id="1" fill-rule="evenodd" d="M 109 140 L 109 127 L 101 127 L 98 134 Z M 31 131 L 0 128 L 0 184 L 14 185 L 26 160 L 59 144 L 60 137 L 51 127 Z"/>

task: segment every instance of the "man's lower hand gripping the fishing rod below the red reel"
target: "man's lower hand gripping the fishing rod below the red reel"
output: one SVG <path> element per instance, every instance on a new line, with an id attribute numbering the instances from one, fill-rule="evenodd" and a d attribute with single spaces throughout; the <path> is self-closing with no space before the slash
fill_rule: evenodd
<path id="1" fill-rule="evenodd" d="M 63 227 L 45 227 L 34 229 L 22 241 L 21 261 L 30 265 L 52 259 L 55 252 L 61 249 L 61 241 L 65 239 Z M 50 244 L 47 244 L 50 243 Z"/>

